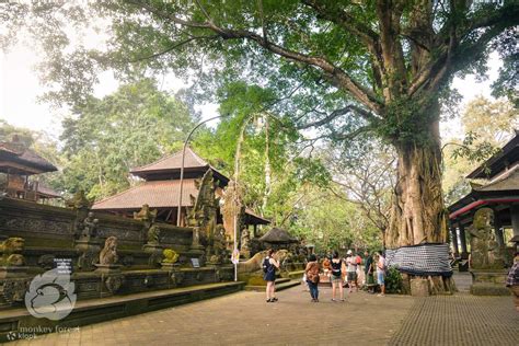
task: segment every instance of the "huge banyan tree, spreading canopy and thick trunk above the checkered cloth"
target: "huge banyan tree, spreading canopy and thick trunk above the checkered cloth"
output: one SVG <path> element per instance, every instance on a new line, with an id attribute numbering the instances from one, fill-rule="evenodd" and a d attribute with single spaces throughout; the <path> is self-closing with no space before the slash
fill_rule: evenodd
<path id="1" fill-rule="evenodd" d="M 70 3 L 18 7 L 4 15 L 16 22 L 14 13 L 32 11 L 39 23 L 32 31 L 50 51 L 44 74 L 61 84 L 61 95 L 78 102 L 89 91 L 85 81 L 95 81 L 89 72 L 103 68 L 173 70 L 208 94 L 211 83 L 245 79 L 275 90 L 272 106 L 296 129 L 318 128 L 335 141 L 374 134 L 397 153 L 388 247 L 447 241 L 439 120 L 454 74 L 484 73 L 492 50 L 505 59 L 501 72 L 517 68 L 517 1 L 126 0 L 90 7 L 89 16 Z M 111 33 L 106 47 L 64 53 L 64 24 L 95 23 L 96 16 Z M 514 79 L 505 74 L 500 81 L 509 88 Z"/>

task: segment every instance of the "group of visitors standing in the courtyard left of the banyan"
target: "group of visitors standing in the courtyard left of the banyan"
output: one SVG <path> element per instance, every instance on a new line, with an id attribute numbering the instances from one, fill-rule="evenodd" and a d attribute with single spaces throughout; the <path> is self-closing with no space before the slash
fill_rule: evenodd
<path id="1" fill-rule="evenodd" d="M 263 262 L 264 278 L 267 281 L 266 301 L 276 302 L 278 299 L 275 296 L 276 290 L 276 269 L 279 269 L 279 262 L 274 258 L 274 250 L 269 250 L 266 258 Z M 355 255 L 351 250 L 348 250 L 346 257 L 341 257 L 337 251 L 334 251 L 331 256 L 325 256 L 322 263 L 322 272 L 332 284 L 332 301 L 345 301 L 344 298 L 344 282 L 349 288 L 349 292 L 359 290 L 358 270 L 362 264 L 360 255 Z M 385 295 L 385 258 L 381 251 L 377 252 L 376 258 L 366 251 L 364 258 L 364 273 L 366 275 L 365 284 L 368 292 L 374 293 L 374 274 L 377 274 L 377 284 L 380 286 L 380 297 Z M 308 284 L 312 302 L 319 302 L 319 282 L 321 280 L 321 264 L 318 256 L 314 254 L 308 258 L 307 267 L 304 269 L 304 281 Z"/>

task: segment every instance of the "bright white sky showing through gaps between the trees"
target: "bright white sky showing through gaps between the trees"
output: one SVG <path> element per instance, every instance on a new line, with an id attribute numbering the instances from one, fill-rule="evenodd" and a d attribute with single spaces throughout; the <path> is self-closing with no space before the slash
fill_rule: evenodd
<path id="1" fill-rule="evenodd" d="M 34 130 L 43 130 L 51 137 L 57 138 L 61 131 L 61 120 L 67 114 L 67 109 L 56 109 L 48 104 L 38 103 L 37 97 L 43 93 L 43 86 L 39 84 L 34 66 L 38 57 L 34 50 L 26 46 L 15 46 L 8 54 L 0 51 L 0 119 L 9 124 L 26 127 Z M 491 97 L 489 85 L 497 77 L 497 70 L 501 65 L 497 54 L 493 54 L 488 61 L 489 79 L 477 83 L 473 76 L 468 78 L 454 79 L 453 86 L 463 95 L 463 105 L 483 94 Z M 165 80 L 171 80 L 165 78 Z M 182 88 L 182 81 L 174 79 L 172 83 L 164 83 L 166 90 L 176 91 Z M 95 90 L 96 96 L 109 94 L 117 89 L 117 82 L 109 73 L 101 77 L 101 83 Z M 203 113 L 203 118 L 214 116 L 217 112 L 217 105 L 200 105 L 198 109 Z M 443 138 L 453 136 L 460 137 L 461 125 L 459 119 L 450 120 L 441 126 Z"/>

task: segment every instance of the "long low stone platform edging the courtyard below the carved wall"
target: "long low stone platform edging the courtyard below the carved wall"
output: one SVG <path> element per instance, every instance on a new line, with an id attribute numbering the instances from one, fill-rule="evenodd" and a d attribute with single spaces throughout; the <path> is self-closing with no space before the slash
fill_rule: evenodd
<path id="1" fill-rule="evenodd" d="M 84 300 L 77 302 L 73 311 L 61 321 L 36 319 L 25 308 L 0 311 L 0 342 L 13 338 L 13 335 L 16 338 L 19 333 L 36 326 L 43 331 L 73 328 L 238 292 L 243 286 L 244 282 L 240 281 L 219 282 Z"/>

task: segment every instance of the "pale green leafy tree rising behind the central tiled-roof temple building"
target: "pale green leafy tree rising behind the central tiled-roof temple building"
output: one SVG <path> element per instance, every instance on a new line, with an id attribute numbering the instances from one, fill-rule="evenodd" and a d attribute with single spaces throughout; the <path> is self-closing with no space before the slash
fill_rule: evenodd
<path id="1" fill-rule="evenodd" d="M 69 194 L 83 189 L 96 199 L 127 188 L 130 169 L 180 149 L 196 120 L 151 80 L 101 100 L 89 97 L 64 120 L 61 188 Z"/>

